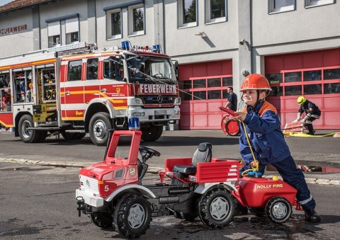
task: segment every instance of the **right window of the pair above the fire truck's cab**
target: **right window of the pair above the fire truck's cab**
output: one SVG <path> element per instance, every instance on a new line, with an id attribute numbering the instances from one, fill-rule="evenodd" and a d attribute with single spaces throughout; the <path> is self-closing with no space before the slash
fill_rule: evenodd
<path id="1" fill-rule="evenodd" d="M 145 34 L 145 8 L 140 4 L 129 7 L 129 34 Z"/>

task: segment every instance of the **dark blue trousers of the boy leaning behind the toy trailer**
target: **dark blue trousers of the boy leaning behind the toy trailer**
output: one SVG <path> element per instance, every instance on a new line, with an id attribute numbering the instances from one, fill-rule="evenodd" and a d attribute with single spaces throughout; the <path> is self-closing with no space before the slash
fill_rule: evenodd
<path id="1" fill-rule="evenodd" d="M 271 164 L 276 167 L 280 176 L 282 176 L 283 181 L 288 183 L 293 188 L 297 190 L 296 199 L 300 202 L 303 210 L 310 210 L 315 208 L 315 201 L 310 195 L 310 190 L 308 189 L 307 183 L 305 181 L 305 175 L 303 175 L 302 170 L 296 168 L 295 161 L 292 156 L 283 159 L 277 163 Z M 245 164 L 243 168 L 240 169 L 240 173 L 246 169 L 251 168 L 249 164 Z M 266 164 L 259 164 L 259 171 L 264 173 Z"/>

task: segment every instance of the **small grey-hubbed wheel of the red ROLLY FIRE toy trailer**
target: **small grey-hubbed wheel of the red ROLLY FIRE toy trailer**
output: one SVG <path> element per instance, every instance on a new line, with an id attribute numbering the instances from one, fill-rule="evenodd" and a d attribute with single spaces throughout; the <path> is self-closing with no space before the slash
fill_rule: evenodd
<path id="1" fill-rule="evenodd" d="M 266 216 L 276 223 L 287 221 L 292 215 L 292 206 L 285 198 L 273 197 L 266 204 Z"/>

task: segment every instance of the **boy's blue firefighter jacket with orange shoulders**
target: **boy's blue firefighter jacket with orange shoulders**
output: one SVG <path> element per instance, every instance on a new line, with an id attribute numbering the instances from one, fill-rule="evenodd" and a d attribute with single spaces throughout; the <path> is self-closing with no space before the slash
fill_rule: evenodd
<path id="1" fill-rule="evenodd" d="M 256 105 L 255 109 L 247 106 L 243 112 L 247 113 L 244 119 L 246 132 L 255 158 L 260 164 L 275 163 L 290 156 L 288 145 L 280 129 L 280 119 L 276 108 L 271 103 L 262 101 Z M 246 141 L 242 122 L 240 122 L 240 129 L 239 152 L 244 161 L 249 164 L 254 159 Z"/>

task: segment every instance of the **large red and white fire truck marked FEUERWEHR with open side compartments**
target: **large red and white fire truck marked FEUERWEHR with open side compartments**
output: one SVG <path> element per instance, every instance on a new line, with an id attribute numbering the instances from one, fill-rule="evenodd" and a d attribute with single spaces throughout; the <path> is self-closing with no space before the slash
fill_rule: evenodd
<path id="1" fill-rule="evenodd" d="M 89 133 L 96 145 L 108 130 L 127 130 L 140 119 L 142 139 L 161 137 L 180 118 L 178 63 L 162 47 L 98 50 L 79 42 L 0 59 L 0 127 L 23 142 Z"/>

